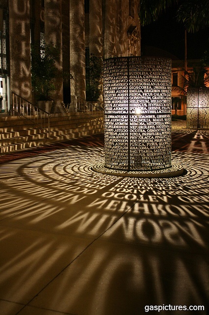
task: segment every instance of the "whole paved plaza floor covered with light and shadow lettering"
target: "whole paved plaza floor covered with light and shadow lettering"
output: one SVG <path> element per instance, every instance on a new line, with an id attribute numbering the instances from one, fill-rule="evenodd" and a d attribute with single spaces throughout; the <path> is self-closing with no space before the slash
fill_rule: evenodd
<path id="1" fill-rule="evenodd" d="M 96 173 L 103 135 L 0 156 L 0 315 L 208 315 L 209 131 L 173 122 L 172 159 Z"/>

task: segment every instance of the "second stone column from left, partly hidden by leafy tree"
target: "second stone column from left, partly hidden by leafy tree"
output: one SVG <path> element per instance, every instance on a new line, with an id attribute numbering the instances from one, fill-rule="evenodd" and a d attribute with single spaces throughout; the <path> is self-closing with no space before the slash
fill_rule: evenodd
<path id="1" fill-rule="evenodd" d="M 61 0 L 45 0 L 45 41 L 53 44 L 59 51 L 56 67 L 60 72 L 56 79 L 56 91 L 53 99 L 57 105 L 63 102 L 62 79 L 62 7 Z"/>

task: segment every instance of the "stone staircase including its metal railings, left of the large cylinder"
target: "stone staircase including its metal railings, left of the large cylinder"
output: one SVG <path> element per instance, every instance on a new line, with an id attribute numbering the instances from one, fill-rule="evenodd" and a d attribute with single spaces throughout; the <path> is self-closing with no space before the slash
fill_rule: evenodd
<path id="1" fill-rule="evenodd" d="M 103 133 L 103 108 L 76 99 L 76 111 L 50 114 L 12 93 L 13 116 L 0 115 L 0 154 Z"/>

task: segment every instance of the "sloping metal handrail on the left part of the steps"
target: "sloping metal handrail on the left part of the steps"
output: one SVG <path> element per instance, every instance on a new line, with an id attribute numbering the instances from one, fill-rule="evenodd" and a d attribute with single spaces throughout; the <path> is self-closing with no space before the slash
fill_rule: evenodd
<path id="1" fill-rule="evenodd" d="M 23 116 L 35 125 L 41 127 L 50 137 L 50 113 L 32 104 L 25 98 L 12 92 L 12 108 L 13 113 Z"/>

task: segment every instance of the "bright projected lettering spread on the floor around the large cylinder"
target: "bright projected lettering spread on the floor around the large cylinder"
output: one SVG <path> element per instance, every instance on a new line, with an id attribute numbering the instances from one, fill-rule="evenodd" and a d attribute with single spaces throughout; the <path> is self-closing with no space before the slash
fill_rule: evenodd
<path id="1" fill-rule="evenodd" d="M 1 216 L 21 211 L 22 218 L 27 217 L 31 224 L 39 222 L 41 226 L 45 220 L 64 211 L 66 205 L 77 207 L 82 203 L 85 205 L 83 209 L 71 211 L 65 221 L 57 220 L 54 229 L 95 235 L 107 230 L 114 222 L 104 237 L 121 230 L 122 238 L 127 241 L 165 242 L 185 247 L 187 242 L 182 233 L 186 227 L 187 235 L 205 247 L 205 242 L 197 237 L 199 224 L 189 218 L 209 218 L 208 170 L 204 168 L 207 167 L 207 157 L 176 153 L 172 155 L 175 162 L 186 160 L 188 170 L 183 177 L 135 179 L 92 172 L 92 156 L 101 161 L 103 148 L 72 147 L 57 150 L 57 154 L 57 157 L 53 155 L 53 161 L 49 153 L 43 154 L 42 158 L 25 158 L 24 164 L 19 164 L 18 160 L 7 163 L 5 169 L 1 165 L 2 176 L 8 174 L 2 179 Z M 70 158 L 66 158 L 66 154 Z M 199 162 L 200 157 L 203 162 Z M 8 188 L 13 191 L 10 195 L 7 195 Z M 24 191 L 22 196 L 20 190 Z M 49 202 L 51 198 L 52 202 Z M 127 212 L 129 216 L 123 216 Z M 167 216 L 173 217 L 173 221 L 169 222 Z M 184 218 L 183 225 L 178 222 L 178 217 Z M 118 218 L 120 220 L 116 222 Z M 153 230 L 151 238 L 149 228 L 147 233 L 142 232 L 147 226 Z M 176 231 L 173 238 L 172 231 Z"/>

